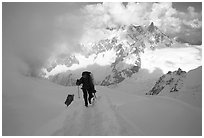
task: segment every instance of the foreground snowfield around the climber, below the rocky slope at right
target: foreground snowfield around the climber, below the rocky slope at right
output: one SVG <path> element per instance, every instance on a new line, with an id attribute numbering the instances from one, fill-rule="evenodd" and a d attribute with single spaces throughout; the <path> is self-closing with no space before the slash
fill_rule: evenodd
<path id="1" fill-rule="evenodd" d="M 24 80 L 24 81 L 23 81 Z M 187 103 L 96 87 L 86 108 L 76 87 L 22 76 L 24 93 L 3 97 L 3 135 L 201 135 L 202 110 Z M 32 86 L 32 87 L 31 87 Z M 64 100 L 75 94 L 67 108 Z M 81 94 L 81 93 L 80 93 Z M 82 96 L 82 95 L 81 95 Z"/>

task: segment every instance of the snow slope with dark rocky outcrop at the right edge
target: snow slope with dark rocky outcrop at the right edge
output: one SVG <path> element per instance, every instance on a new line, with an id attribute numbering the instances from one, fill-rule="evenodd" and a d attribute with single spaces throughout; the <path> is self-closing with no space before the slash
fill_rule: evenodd
<path id="1" fill-rule="evenodd" d="M 202 66 L 185 72 L 177 70 L 161 76 L 146 94 L 176 98 L 202 107 Z"/>

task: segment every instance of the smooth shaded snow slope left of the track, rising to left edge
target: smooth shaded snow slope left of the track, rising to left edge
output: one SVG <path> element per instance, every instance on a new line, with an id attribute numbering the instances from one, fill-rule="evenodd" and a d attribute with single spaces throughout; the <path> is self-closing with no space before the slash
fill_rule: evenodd
<path id="1" fill-rule="evenodd" d="M 33 135 L 64 110 L 66 87 L 30 77 L 27 66 L 8 52 L 3 57 L 2 135 Z"/>

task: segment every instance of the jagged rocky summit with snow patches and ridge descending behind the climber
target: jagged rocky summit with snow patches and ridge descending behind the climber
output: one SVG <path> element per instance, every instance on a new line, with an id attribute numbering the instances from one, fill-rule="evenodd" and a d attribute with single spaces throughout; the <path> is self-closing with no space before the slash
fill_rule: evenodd
<path id="1" fill-rule="evenodd" d="M 154 26 L 153 22 L 148 27 L 132 24 L 124 30 L 123 37 L 114 37 L 115 40 L 109 41 L 116 42 L 109 45 L 116 49 L 117 57 L 111 64 L 112 73 L 106 76 L 101 85 L 120 83 L 137 73 L 141 67 L 140 53 L 148 46 L 155 49 L 158 45 L 169 47 L 173 44 L 173 40 Z"/>

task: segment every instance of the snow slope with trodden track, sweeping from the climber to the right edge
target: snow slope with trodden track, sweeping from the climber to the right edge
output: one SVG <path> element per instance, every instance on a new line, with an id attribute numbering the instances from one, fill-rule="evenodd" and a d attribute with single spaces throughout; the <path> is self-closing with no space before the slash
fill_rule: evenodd
<path id="1" fill-rule="evenodd" d="M 98 100 L 85 108 L 75 100 L 36 135 L 201 135 L 201 109 L 164 97 L 142 97 L 97 87 Z M 56 124 L 58 124 L 56 126 Z"/>

